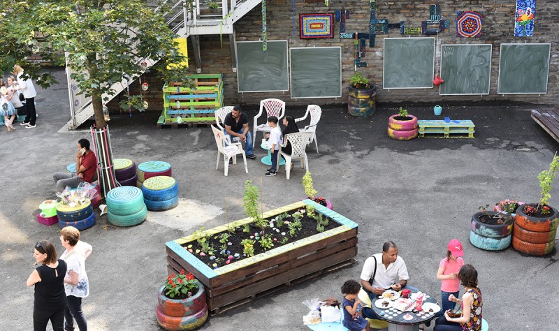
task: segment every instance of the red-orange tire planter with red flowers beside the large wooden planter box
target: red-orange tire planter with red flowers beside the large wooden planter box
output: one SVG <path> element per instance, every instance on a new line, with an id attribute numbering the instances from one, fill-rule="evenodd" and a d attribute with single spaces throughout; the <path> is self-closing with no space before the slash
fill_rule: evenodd
<path id="1" fill-rule="evenodd" d="M 208 319 L 204 286 L 184 269 L 159 289 L 157 323 L 165 330 L 195 330 Z"/>

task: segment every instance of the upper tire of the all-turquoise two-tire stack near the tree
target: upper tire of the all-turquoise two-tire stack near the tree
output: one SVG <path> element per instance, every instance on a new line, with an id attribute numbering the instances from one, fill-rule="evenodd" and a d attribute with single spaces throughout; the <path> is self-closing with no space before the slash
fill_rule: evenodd
<path id="1" fill-rule="evenodd" d="M 106 201 L 108 211 L 113 215 L 128 216 L 145 207 L 142 190 L 134 186 L 119 186 L 110 190 Z"/>

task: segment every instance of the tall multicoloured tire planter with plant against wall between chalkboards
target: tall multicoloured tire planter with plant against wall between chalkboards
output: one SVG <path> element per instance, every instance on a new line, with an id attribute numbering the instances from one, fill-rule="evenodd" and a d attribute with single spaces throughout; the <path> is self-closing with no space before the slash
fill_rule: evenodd
<path id="1" fill-rule="evenodd" d="M 361 73 L 354 73 L 349 78 L 349 96 L 347 98 L 347 112 L 356 117 L 370 116 L 375 113 L 375 96 L 377 87 L 370 84 L 368 78 Z"/>

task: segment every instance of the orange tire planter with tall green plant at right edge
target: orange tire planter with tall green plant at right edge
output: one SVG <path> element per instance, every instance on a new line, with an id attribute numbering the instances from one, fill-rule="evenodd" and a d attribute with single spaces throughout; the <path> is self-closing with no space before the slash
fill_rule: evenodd
<path id="1" fill-rule="evenodd" d="M 542 256 L 553 250 L 559 212 L 548 205 L 551 198 L 551 184 L 559 169 L 559 156 L 554 156 L 549 170 L 539 173 L 542 193 L 538 203 L 527 203 L 516 209 L 512 247 L 517 251 L 534 256 Z"/>

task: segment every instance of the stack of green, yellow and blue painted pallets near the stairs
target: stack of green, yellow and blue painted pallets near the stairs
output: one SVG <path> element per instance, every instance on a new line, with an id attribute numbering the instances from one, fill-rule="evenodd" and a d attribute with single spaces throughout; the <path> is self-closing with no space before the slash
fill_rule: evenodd
<path id="1" fill-rule="evenodd" d="M 166 82 L 163 87 L 164 110 L 161 124 L 212 124 L 214 112 L 223 107 L 223 75 L 191 75 L 195 89 L 181 82 Z M 160 124 L 158 122 L 158 124 Z"/>

